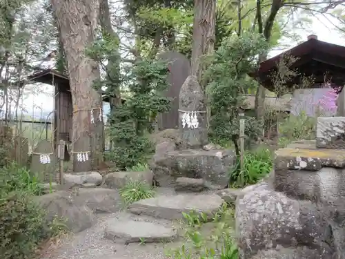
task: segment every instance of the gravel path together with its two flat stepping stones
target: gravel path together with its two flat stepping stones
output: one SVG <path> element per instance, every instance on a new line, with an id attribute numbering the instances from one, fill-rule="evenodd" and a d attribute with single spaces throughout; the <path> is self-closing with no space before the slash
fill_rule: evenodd
<path id="1" fill-rule="evenodd" d="M 134 210 L 135 214 L 97 215 L 95 226 L 63 240 L 59 249 L 48 251 L 41 259 L 164 259 L 170 249 L 185 242 L 179 235 L 183 224 L 175 220 L 181 219 L 181 211 L 216 211 L 222 202 L 214 194 L 160 194 L 142 200 L 140 206 L 132 204 L 132 212 L 144 208 Z M 141 242 L 143 238 L 145 242 Z"/>

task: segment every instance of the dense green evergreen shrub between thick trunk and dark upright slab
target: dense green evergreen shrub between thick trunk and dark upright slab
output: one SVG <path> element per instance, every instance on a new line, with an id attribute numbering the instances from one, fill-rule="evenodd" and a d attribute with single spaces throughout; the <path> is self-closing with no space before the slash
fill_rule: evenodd
<path id="1" fill-rule="evenodd" d="M 139 61 L 128 68 L 124 81 L 132 95 L 109 118 L 115 146 L 110 160 L 121 170 L 146 162 L 153 151 L 145 133 L 152 130 L 152 118 L 170 108 L 170 99 L 161 95 L 168 86 L 167 72 L 166 64 L 159 61 Z"/>

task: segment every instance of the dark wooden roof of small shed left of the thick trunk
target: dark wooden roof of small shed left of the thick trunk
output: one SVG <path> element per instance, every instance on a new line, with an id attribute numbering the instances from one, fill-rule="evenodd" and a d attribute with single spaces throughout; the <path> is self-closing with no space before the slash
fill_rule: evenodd
<path id="1" fill-rule="evenodd" d="M 59 90 L 63 91 L 70 91 L 70 79 L 68 79 L 67 75 L 63 75 L 59 73 L 57 70 L 53 69 L 46 69 L 34 73 L 27 77 L 26 81 L 36 81 L 43 84 L 50 84 L 57 86 Z M 109 97 L 103 95 L 102 97 L 103 102 L 109 102 Z M 122 99 L 122 102 L 126 102 Z"/>

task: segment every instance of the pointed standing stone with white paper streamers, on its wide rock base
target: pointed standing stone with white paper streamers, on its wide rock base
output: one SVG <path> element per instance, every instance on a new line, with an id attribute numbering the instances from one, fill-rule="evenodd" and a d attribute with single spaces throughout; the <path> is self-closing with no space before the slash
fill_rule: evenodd
<path id="1" fill-rule="evenodd" d="M 223 189 L 236 162 L 235 151 L 208 144 L 204 93 L 196 75 L 189 75 L 179 93 L 179 131 L 174 142 L 156 146 L 150 162 L 157 184 L 176 191 Z"/>

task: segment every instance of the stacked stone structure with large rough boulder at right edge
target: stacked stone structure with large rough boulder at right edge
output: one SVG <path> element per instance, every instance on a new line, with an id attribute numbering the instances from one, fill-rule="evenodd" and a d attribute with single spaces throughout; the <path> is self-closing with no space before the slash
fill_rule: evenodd
<path id="1" fill-rule="evenodd" d="M 240 257 L 345 258 L 345 117 L 319 117 L 315 140 L 276 151 L 271 182 L 236 202 Z"/>

